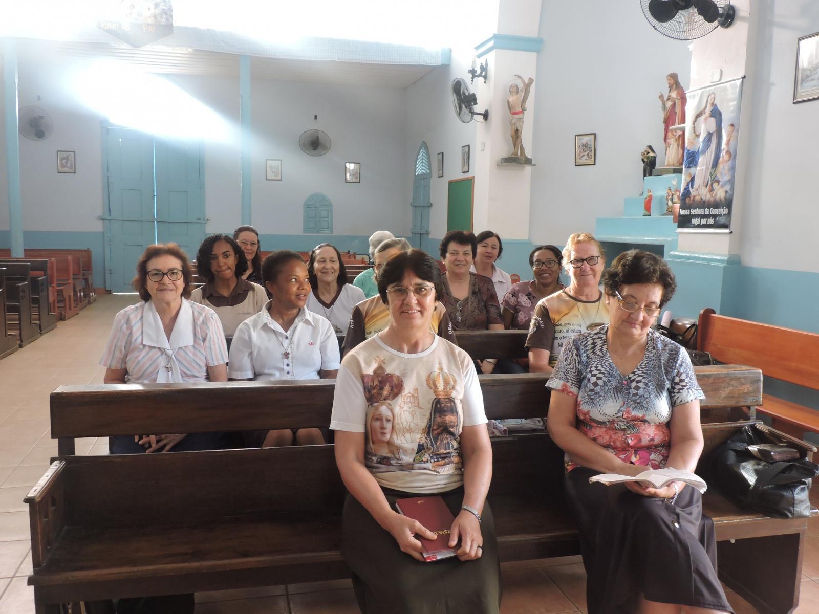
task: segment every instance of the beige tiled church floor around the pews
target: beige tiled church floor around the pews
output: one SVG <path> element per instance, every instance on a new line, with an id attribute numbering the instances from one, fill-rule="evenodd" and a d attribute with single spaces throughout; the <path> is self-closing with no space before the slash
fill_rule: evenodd
<path id="1" fill-rule="evenodd" d="M 0 614 L 33 614 L 29 514 L 22 499 L 57 454 L 48 432 L 48 395 L 62 384 L 102 383 L 97 366 L 114 314 L 136 296 L 99 296 L 55 331 L 0 360 Z M 104 439 L 77 442 L 78 454 L 106 454 Z M 819 500 L 819 499 L 817 499 Z M 801 603 L 819 612 L 819 518 L 810 521 Z M 505 563 L 503 614 L 585 612 L 586 574 L 579 557 Z M 756 612 L 729 593 L 737 614 Z M 347 580 L 199 593 L 197 614 L 355 614 Z"/>

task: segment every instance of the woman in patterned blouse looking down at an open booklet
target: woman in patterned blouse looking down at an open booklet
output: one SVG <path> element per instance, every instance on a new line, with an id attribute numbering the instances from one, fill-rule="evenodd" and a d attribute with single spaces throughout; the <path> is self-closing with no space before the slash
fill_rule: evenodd
<path id="1" fill-rule="evenodd" d="M 547 423 L 566 453 L 589 612 L 732 612 L 699 490 L 680 481 L 660 489 L 589 482 L 661 467 L 693 472 L 703 449 L 704 395 L 688 354 L 651 329 L 676 288 L 671 269 L 631 250 L 614 260 L 603 285 L 609 324 L 572 337 L 547 384 Z"/>

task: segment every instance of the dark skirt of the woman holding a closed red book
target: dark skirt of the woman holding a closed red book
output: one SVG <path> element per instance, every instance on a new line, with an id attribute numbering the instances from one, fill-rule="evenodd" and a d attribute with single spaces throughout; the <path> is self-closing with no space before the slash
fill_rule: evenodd
<path id="1" fill-rule="evenodd" d="M 396 499 L 423 496 L 384 490 Z M 464 489 L 440 493 L 457 516 Z M 495 522 L 487 502 L 481 533 L 483 553 L 475 561 L 456 557 L 420 562 L 403 553 L 396 540 L 347 494 L 342 517 L 342 555 L 350 566 L 353 589 L 363 614 L 497 614 L 500 611 L 500 564 Z"/>

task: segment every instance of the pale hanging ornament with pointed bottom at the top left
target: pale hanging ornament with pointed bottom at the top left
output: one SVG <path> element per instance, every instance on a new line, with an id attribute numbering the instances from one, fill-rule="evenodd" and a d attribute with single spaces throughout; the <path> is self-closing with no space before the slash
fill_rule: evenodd
<path id="1" fill-rule="evenodd" d="M 173 0 L 111 0 L 99 27 L 131 47 L 174 33 Z"/>

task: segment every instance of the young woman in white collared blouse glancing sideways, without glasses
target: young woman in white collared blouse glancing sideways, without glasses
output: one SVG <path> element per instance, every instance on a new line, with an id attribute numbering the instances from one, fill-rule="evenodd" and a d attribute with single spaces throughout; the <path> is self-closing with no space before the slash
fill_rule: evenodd
<path id="1" fill-rule="evenodd" d="M 310 278 L 295 251 L 274 251 L 261 266 L 270 292 L 264 309 L 239 324 L 230 346 L 232 380 L 315 380 L 336 377 L 340 362 L 333 325 L 305 309 Z M 324 444 L 317 428 L 246 431 L 249 447 Z"/>

